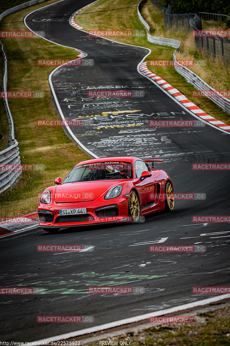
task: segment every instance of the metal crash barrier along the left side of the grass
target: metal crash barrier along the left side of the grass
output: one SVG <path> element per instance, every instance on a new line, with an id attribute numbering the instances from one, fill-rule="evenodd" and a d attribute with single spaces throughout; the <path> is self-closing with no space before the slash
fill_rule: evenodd
<path id="1" fill-rule="evenodd" d="M 0 14 L 0 22 L 4 17 L 10 15 L 13 12 L 22 10 L 23 8 L 35 5 L 43 1 L 45 0 L 31 0 L 31 1 L 24 2 L 18 6 L 14 6 Z M 0 45 L 1 45 L 1 52 L 3 56 L 2 90 L 7 91 L 7 57 L 4 52 L 1 41 L 0 41 Z M 9 146 L 8 148 L 0 152 L 0 164 L 1 165 L 19 164 L 20 156 L 19 156 L 18 142 L 16 141 L 14 137 L 13 119 L 10 112 L 8 99 L 3 98 L 3 102 L 6 109 L 6 115 L 7 115 L 8 124 L 9 124 L 9 144 L 8 144 Z M 12 186 L 12 184 L 15 183 L 16 179 L 20 176 L 20 174 L 21 174 L 21 171 L 6 171 L 5 172 L 0 170 L 0 193 L 9 189 Z"/>

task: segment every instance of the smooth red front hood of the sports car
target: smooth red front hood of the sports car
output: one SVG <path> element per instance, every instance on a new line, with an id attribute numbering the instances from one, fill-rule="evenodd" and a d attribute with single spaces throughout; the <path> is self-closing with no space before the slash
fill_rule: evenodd
<path id="1" fill-rule="evenodd" d="M 58 203 L 92 201 L 118 184 L 120 185 L 119 181 L 102 180 L 57 185 L 54 200 Z"/>

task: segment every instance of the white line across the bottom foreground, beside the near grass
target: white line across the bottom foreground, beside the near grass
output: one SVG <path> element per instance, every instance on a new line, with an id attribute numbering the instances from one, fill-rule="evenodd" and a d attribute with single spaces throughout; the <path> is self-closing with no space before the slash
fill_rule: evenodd
<path id="1" fill-rule="evenodd" d="M 216 297 L 211 297 L 211 298 L 207 298 L 207 299 L 202 299 L 202 300 L 197 300 L 195 302 L 192 303 L 187 303 L 187 304 L 183 304 L 180 306 L 176 306 L 173 308 L 169 308 L 169 309 L 164 309 L 164 310 L 158 310 L 158 311 L 154 311 L 154 312 L 149 312 L 149 313 L 145 313 L 144 315 L 139 315 L 139 316 L 134 316 L 134 317 L 129 317 L 129 318 L 125 318 L 119 321 L 114 321 L 114 322 L 109 322 L 103 325 L 99 325 L 99 326 L 95 326 L 95 327 L 90 327 L 90 328 L 86 328 L 86 329 L 82 329 L 82 330 L 75 330 L 72 331 L 70 333 L 66 333 L 66 334 L 61 334 L 61 335 L 56 335 L 56 336 L 52 336 L 46 339 L 41 339 L 41 340 L 36 340 L 35 342 L 37 343 L 49 343 L 52 341 L 59 341 L 59 340 L 63 340 L 63 339 L 69 339 L 75 336 L 80 336 L 80 335 L 84 335 L 84 334 L 89 334 L 89 333 L 96 333 L 97 331 L 100 330 L 104 330 L 104 329 L 109 329 L 109 328 L 114 328 L 117 326 L 122 326 L 125 324 L 129 324 L 129 323 L 133 323 L 133 322 L 138 322 L 141 320 L 146 320 L 149 317 L 154 317 L 154 316 L 163 316 L 169 313 L 173 313 L 173 312 L 178 312 L 181 310 L 186 310 L 186 309 L 191 309 L 197 306 L 203 306 L 209 303 L 213 303 L 213 302 L 218 302 L 219 300 L 223 300 L 226 298 L 230 298 L 230 294 L 221 294 L 221 295 L 217 295 Z M 32 345 L 32 343 L 28 343 L 27 346 Z M 26 345 L 22 345 L 22 346 L 26 346 Z"/>

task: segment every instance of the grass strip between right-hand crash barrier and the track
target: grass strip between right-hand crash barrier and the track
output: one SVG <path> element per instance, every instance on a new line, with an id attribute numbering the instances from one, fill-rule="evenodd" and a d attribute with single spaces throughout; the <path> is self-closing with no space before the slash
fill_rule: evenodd
<path id="1" fill-rule="evenodd" d="M 149 3 L 148 0 L 147 3 Z M 144 30 L 144 26 L 137 15 L 137 7 L 127 8 L 121 10 L 114 11 L 106 11 L 111 9 L 116 9 L 120 7 L 129 7 L 129 6 L 137 6 L 139 3 L 138 0 L 117 0 L 116 4 L 113 0 L 100 0 L 90 7 L 80 11 L 78 15 L 75 17 L 76 23 L 81 25 L 84 30 Z M 154 7 L 154 5 L 149 5 L 145 7 L 145 11 L 149 11 L 149 8 Z M 148 8 L 148 9 L 147 9 Z M 155 8 L 155 7 L 154 7 Z M 156 9 L 158 10 L 158 9 Z M 106 12 L 97 12 L 97 13 L 88 13 L 94 11 L 106 11 Z M 159 10 L 158 10 L 159 11 Z M 88 13 L 88 14 L 87 14 Z M 156 12 L 157 15 L 155 19 L 163 30 L 163 13 L 161 11 Z M 159 32 L 157 32 L 157 36 Z M 184 33 L 184 37 L 187 36 L 187 33 Z M 175 36 L 173 37 L 175 38 Z M 178 35 L 176 36 L 178 39 Z M 138 46 L 143 46 L 151 49 L 150 55 L 146 58 L 146 61 L 149 60 L 160 60 L 160 59 L 172 59 L 174 48 L 168 46 L 160 46 L 155 45 L 147 40 L 147 35 L 144 37 L 113 37 L 115 41 L 128 43 Z M 125 48 L 124 48 L 125 49 Z M 213 103 L 208 98 L 200 98 L 200 97 L 191 97 L 191 92 L 194 90 L 194 86 L 189 84 L 179 73 L 177 73 L 174 67 L 156 67 L 156 66 L 148 66 L 149 70 L 156 73 L 167 82 L 169 82 L 174 88 L 177 88 L 180 92 L 182 92 L 188 99 L 197 104 L 198 107 L 203 109 L 209 115 L 217 118 L 226 124 L 230 124 L 230 116 L 220 109 L 215 103 Z M 225 77 L 226 79 L 226 77 Z"/>

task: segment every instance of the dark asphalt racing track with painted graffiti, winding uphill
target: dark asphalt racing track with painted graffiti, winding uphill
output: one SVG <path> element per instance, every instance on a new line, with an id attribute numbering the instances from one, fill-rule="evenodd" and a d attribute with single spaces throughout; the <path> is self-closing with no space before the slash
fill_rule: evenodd
<path id="1" fill-rule="evenodd" d="M 194 118 L 137 72 L 137 65 L 148 53 L 147 49 L 89 38 L 71 27 L 68 17 L 29 21 L 71 15 L 86 4 L 87 1 L 76 4 L 76 1 L 65 0 L 27 17 L 27 25 L 32 30 L 44 30 L 46 38 L 79 48 L 88 53 L 87 59 L 94 59 L 91 67 L 61 67 L 53 74 L 52 83 L 62 111 L 66 118 L 73 119 L 79 115 L 136 110 L 136 116 L 131 117 L 128 112 L 120 113 L 121 117 L 104 113 L 108 116 L 94 118 L 96 127 L 142 125 L 88 129 L 89 136 L 84 135 L 84 128 L 75 127 L 72 128 L 74 134 L 99 157 L 116 154 L 164 158 L 166 163 L 157 167 L 169 173 L 175 192 L 202 192 L 207 198 L 176 201 L 172 213 L 148 216 L 144 224 L 65 229 L 58 234 L 33 229 L 3 237 L 1 287 L 21 285 L 48 289 L 45 295 L 1 295 L 1 339 L 5 341 L 28 342 L 157 311 L 213 296 L 192 294 L 193 286 L 229 285 L 229 224 L 191 222 L 193 215 L 229 215 L 229 173 L 192 171 L 191 164 L 230 162 L 230 136 L 208 125 L 190 129 L 148 128 L 149 119 Z M 96 103 L 95 100 L 82 101 L 80 97 L 86 98 L 86 88 L 92 85 L 103 85 L 107 89 L 110 85 L 118 88 L 127 85 L 131 90 L 141 88 L 145 97 L 111 102 L 98 99 Z M 75 87 L 77 89 L 73 89 Z M 63 101 L 66 98 L 73 100 Z M 68 108 L 68 105 L 73 106 Z M 149 243 L 161 238 L 167 238 L 165 245 L 206 245 L 207 252 L 149 253 Z M 86 244 L 93 245 L 94 251 L 38 253 L 38 244 Z M 141 286 L 146 293 L 90 295 L 88 285 Z M 38 324 L 38 315 L 92 315 L 94 322 Z"/>

